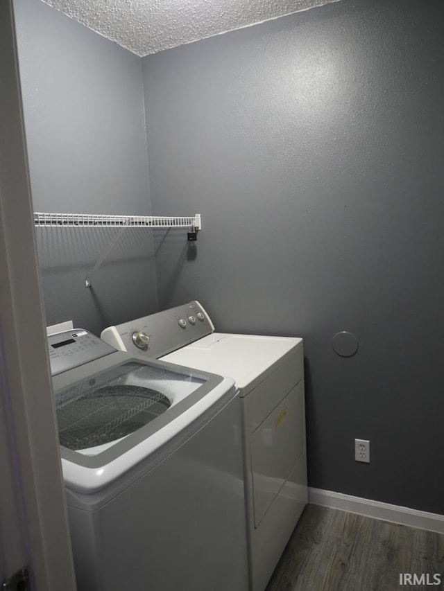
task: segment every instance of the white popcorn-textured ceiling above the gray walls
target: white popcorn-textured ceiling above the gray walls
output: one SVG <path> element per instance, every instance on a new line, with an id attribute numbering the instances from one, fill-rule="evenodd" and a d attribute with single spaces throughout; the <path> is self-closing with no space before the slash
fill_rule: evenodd
<path id="1" fill-rule="evenodd" d="M 136 55 L 338 0 L 43 0 Z"/>

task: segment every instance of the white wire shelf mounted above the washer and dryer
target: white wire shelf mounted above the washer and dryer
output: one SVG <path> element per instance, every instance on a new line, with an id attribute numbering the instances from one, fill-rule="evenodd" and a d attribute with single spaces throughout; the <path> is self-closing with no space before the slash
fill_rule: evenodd
<path id="1" fill-rule="evenodd" d="M 182 217 L 167 215 L 101 215 L 89 213 L 34 213 L 37 227 L 150 227 L 201 230 L 200 214 Z"/>

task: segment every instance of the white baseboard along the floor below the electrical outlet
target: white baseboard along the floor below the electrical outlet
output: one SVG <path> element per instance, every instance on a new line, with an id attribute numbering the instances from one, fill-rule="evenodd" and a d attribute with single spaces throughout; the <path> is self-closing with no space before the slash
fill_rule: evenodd
<path id="1" fill-rule="evenodd" d="M 308 500 L 309 503 L 314 505 L 341 509 L 342 511 L 350 511 L 350 513 L 358 513 L 375 519 L 444 533 L 444 515 L 438 515 L 438 513 L 427 513 L 427 511 L 409 509 L 409 507 L 361 499 L 360 497 L 333 493 L 332 491 L 322 491 L 320 488 L 309 488 Z"/>

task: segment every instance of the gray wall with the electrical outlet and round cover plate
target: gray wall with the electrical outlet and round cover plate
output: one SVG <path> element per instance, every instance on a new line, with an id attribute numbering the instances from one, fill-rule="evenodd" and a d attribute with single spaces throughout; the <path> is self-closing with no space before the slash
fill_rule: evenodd
<path id="1" fill-rule="evenodd" d="M 153 212 L 204 228 L 196 250 L 158 244 L 160 307 L 197 298 L 218 330 L 304 337 L 309 484 L 436 513 L 443 17 L 343 0 L 143 61 Z"/>

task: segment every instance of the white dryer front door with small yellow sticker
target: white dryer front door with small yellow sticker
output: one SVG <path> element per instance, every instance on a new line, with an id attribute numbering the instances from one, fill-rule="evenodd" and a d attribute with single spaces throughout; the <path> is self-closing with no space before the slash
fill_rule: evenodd
<path id="1" fill-rule="evenodd" d="M 303 450 L 304 403 L 300 381 L 251 435 L 255 527 L 259 526 Z"/>

